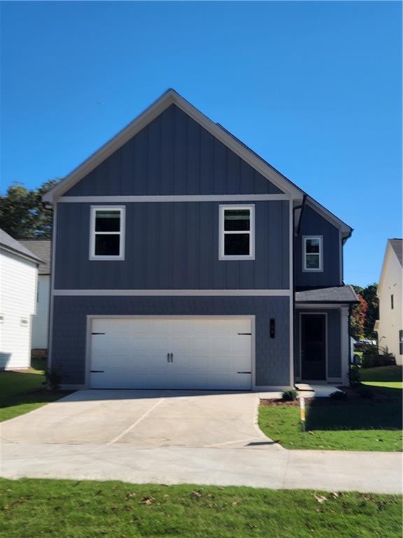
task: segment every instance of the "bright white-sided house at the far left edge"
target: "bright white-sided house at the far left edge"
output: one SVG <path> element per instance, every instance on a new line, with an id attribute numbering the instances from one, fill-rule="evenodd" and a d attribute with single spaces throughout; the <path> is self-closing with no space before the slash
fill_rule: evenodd
<path id="1" fill-rule="evenodd" d="M 41 260 L 0 230 L 0 370 L 29 368 Z"/>

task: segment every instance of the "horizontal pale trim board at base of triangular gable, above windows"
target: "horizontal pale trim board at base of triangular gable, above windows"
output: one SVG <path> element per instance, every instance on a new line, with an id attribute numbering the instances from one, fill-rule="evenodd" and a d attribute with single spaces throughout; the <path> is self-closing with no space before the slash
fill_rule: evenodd
<path id="1" fill-rule="evenodd" d="M 97 202 L 270 202 L 290 200 L 285 194 L 178 194 L 143 196 L 62 196 L 57 202 L 97 203 Z"/>

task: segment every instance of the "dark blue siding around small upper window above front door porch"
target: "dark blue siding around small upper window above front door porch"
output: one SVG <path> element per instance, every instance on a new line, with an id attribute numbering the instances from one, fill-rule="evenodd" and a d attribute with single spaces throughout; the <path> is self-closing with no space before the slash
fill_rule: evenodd
<path id="1" fill-rule="evenodd" d="M 303 270 L 304 235 L 323 237 L 323 271 Z M 295 237 L 295 286 L 297 288 L 318 288 L 342 284 L 341 245 L 339 229 L 333 226 L 312 207 L 306 205 L 299 224 L 299 234 Z"/>

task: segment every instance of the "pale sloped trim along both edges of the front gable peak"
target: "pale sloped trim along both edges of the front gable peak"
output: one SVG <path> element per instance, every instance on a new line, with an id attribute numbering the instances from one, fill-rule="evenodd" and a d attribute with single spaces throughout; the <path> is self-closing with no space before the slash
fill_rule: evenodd
<path id="1" fill-rule="evenodd" d="M 234 151 L 237 156 L 241 157 L 250 166 L 252 166 L 257 172 L 260 172 L 266 179 L 271 181 L 274 185 L 288 193 L 290 198 L 302 198 L 303 192 L 292 182 L 285 178 L 280 172 L 271 167 L 268 163 L 265 163 L 262 158 L 256 155 L 253 151 L 244 146 L 241 142 L 236 140 L 232 135 L 229 135 L 220 125 L 214 123 L 210 118 L 204 116 L 199 110 L 195 108 L 188 101 L 183 99 L 176 91 L 170 89 L 164 93 L 157 101 L 148 107 L 143 113 L 141 113 L 136 119 L 134 119 L 127 127 L 118 132 L 109 142 L 101 146 L 101 148 L 92 154 L 87 160 L 73 170 L 61 183 L 53 187 L 48 193 L 43 196 L 44 202 L 54 202 L 57 196 L 64 194 L 72 186 L 78 183 L 83 177 L 89 174 L 95 167 L 97 167 L 102 161 L 111 156 L 116 150 L 118 150 L 125 142 L 134 137 L 137 132 L 141 131 L 143 127 L 146 127 L 148 123 L 153 121 L 157 116 L 166 110 L 171 104 L 176 104 L 183 112 L 187 113 L 190 118 L 195 120 L 199 125 L 204 127 L 215 138 L 220 140 L 225 146 Z"/>

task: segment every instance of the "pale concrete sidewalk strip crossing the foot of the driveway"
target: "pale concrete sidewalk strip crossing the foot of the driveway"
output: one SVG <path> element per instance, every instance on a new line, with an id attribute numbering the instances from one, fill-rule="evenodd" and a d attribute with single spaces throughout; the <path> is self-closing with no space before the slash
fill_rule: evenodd
<path id="1" fill-rule="evenodd" d="M 113 445 L 1 446 L 3 478 L 402 492 L 400 453 Z"/>

